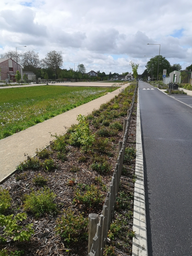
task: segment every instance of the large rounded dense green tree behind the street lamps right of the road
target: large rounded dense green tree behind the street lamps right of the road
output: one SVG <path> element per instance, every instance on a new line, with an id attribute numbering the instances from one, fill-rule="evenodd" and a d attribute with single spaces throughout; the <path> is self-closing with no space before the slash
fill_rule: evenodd
<path id="1" fill-rule="evenodd" d="M 158 60 L 159 60 L 159 74 L 163 74 L 163 69 L 169 70 L 170 63 L 168 60 L 165 59 L 162 55 L 157 55 L 153 58 L 151 58 L 147 65 L 145 66 L 147 68 L 147 71 L 149 74 L 151 74 L 151 71 L 153 72 L 154 78 L 157 78 L 157 70 L 158 70 Z M 161 76 L 161 79 L 163 78 L 163 75 Z"/>

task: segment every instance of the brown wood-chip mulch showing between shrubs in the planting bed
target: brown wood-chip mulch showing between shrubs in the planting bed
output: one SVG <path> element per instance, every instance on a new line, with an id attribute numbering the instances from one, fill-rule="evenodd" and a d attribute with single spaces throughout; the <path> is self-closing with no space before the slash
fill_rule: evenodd
<path id="1" fill-rule="evenodd" d="M 120 93 L 118 97 L 112 99 L 108 103 L 108 107 L 113 105 L 115 101 L 118 101 L 119 109 L 118 112 L 122 111 L 124 108 L 124 116 L 119 116 L 113 118 L 112 122 L 119 121 L 123 125 L 123 120 L 126 118 L 125 104 L 123 102 L 127 99 L 132 99 L 132 95 L 125 95 L 125 93 Z M 137 97 L 135 98 L 137 99 Z M 133 116 L 131 118 L 130 131 L 127 141 L 127 147 L 135 148 L 136 141 L 136 106 L 137 101 L 135 100 L 135 109 Z M 105 110 L 105 109 L 104 109 Z M 100 112 L 104 111 L 100 109 Z M 95 133 L 101 124 L 97 127 L 95 125 L 95 120 L 99 118 L 97 116 L 97 111 L 93 112 L 93 119 L 89 119 L 89 127 L 93 133 Z M 97 128 L 96 128 L 97 127 Z M 26 171 L 16 171 L 12 176 L 9 177 L 2 185 L 1 188 L 9 190 L 9 194 L 12 198 L 12 205 L 10 209 L 6 212 L 8 214 L 17 214 L 23 211 L 23 200 L 26 194 L 30 194 L 32 190 L 37 191 L 41 189 L 41 186 L 36 186 L 33 179 L 38 174 L 41 174 L 46 178 L 46 187 L 50 188 L 57 197 L 54 203 L 57 205 L 56 214 L 44 214 L 39 218 L 31 212 L 27 212 L 27 220 L 22 222 L 22 226 L 25 224 L 33 223 L 33 228 L 35 230 L 34 235 L 32 235 L 30 241 L 28 242 L 13 242 L 13 239 L 7 238 L 5 244 L 0 245 L 0 249 L 6 248 L 7 251 L 14 250 L 24 250 L 23 255 L 87 255 L 88 240 L 79 240 L 78 242 L 67 244 L 59 235 L 56 234 L 55 226 L 56 220 L 62 216 L 63 210 L 67 208 L 73 209 L 77 213 L 82 213 L 85 218 L 88 218 L 89 213 L 101 214 L 103 203 L 107 195 L 111 177 L 113 175 L 114 166 L 117 161 L 118 156 L 118 142 L 122 140 L 122 130 L 118 131 L 117 135 L 109 136 L 110 152 L 99 153 L 95 150 L 96 154 L 105 155 L 108 163 L 111 165 L 110 171 L 104 174 L 97 173 L 91 169 L 92 163 L 92 153 L 82 153 L 80 148 L 77 146 L 67 145 L 67 160 L 62 161 L 57 158 L 57 152 L 51 149 L 51 145 L 47 147 L 51 151 L 51 158 L 56 164 L 56 168 L 50 172 L 45 171 L 43 167 L 38 170 L 26 170 Z M 103 137 L 106 138 L 106 137 Z M 94 150 L 94 149 L 93 149 Z M 80 162 L 79 158 L 84 156 L 86 158 L 85 162 Z M 43 161 L 43 160 L 41 160 Z M 78 167 L 77 172 L 71 171 L 75 167 Z M 135 159 L 124 164 L 124 171 L 121 177 L 120 191 L 124 191 L 129 195 L 134 193 L 134 172 L 135 172 Z M 95 177 L 102 177 L 102 184 L 95 179 Z M 18 178 L 19 177 L 19 178 Z M 18 180 L 19 179 L 19 180 Z M 73 186 L 69 186 L 69 181 L 73 180 Z M 74 202 L 74 192 L 77 189 L 78 184 L 91 185 L 94 184 L 102 193 L 103 201 L 100 204 L 94 205 L 92 207 L 87 207 L 81 202 Z M 129 211 L 133 212 L 133 198 L 130 196 Z M 121 218 L 125 216 L 126 210 L 117 207 L 115 212 L 115 218 Z M 119 217 L 120 216 L 120 217 Z M 130 214 L 126 229 L 121 230 L 127 232 L 127 227 L 132 230 L 133 216 Z M 122 217 L 124 218 L 124 217 Z M 126 219 L 126 216 L 125 216 Z M 114 220 L 115 221 L 115 220 Z M 113 222 L 114 222 L 113 221 Z M 86 232 L 88 232 L 86 230 Z M 0 235 L 2 235 L 3 229 L 0 228 Z M 107 245 L 113 246 L 115 255 L 131 255 L 132 250 L 132 238 L 127 237 L 126 242 L 122 240 L 122 235 L 114 235 L 113 239 L 108 238 Z M 66 252 L 69 250 L 69 252 Z M 124 254 L 122 254 L 122 253 Z"/>

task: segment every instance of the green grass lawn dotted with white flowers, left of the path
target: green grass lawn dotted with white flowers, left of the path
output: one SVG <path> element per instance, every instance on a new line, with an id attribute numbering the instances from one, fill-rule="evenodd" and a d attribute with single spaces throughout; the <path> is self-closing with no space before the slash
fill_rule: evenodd
<path id="1" fill-rule="evenodd" d="M 0 139 L 85 104 L 116 88 L 45 85 L 0 90 Z"/>

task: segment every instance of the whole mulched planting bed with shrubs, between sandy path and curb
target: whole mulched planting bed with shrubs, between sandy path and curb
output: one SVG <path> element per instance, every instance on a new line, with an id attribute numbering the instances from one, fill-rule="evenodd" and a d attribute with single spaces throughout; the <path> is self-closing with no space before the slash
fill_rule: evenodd
<path id="1" fill-rule="evenodd" d="M 14 251 L 15 255 L 31 256 L 87 255 L 88 215 L 102 211 L 122 140 L 123 120 L 133 97 L 130 87 L 87 117 L 80 115 L 78 125 L 65 135 L 55 135 L 36 157 L 27 156 L 1 185 L 0 210 L 6 216 L 2 219 L 14 224 L 13 233 L 0 216 L 2 255 Z M 135 137 L 136 109 L 106 256 L 112 255 L 111 251 L 114 255 L 130 253 L 132 248 Z"/>

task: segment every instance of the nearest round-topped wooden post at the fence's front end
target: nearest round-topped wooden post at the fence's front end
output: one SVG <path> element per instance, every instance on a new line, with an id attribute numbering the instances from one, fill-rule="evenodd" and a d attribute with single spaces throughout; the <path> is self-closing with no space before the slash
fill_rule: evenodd
<path id="1" fill-rule="evenodd" d="M 98 224 L 98 214 L 90 213 L 89 214 L 89 242 L 88 242 L 88 254 L 91 252 L 93 245 L 93 238 L 97 231 Z"/>

